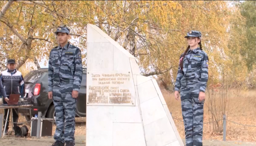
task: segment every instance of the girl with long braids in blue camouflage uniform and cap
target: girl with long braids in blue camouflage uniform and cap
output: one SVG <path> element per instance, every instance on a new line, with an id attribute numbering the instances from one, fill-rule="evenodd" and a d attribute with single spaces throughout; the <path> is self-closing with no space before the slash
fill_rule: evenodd
<path id="1" fill-rule="evenodd" d="M 190 31 L 185 38 L 187 38 L 188 47 L 180 57 L 174 94 L 178 100 L 179 91 L 181 93 L 186 146 L 202 146 L 203 103 L 208 81 L 208 55 L 202 51 L 200 32 Z"/>

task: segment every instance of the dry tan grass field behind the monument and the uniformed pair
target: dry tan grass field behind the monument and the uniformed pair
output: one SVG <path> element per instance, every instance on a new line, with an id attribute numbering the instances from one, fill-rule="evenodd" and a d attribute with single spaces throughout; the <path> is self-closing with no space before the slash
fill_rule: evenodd
<path id="1" fill-rule="evenodd" d="M 160 87 L 161 88 L 161 87 Z M 176 101 L 173 93 L 166 91 L 161 88 L 162 94 L 165 98 L 165 101 L 169 107 L 170 112 L 172 112 L 172 116 L 174 118 L 175 125 L 181 135 L 182 139 L 185 139 L 184 135 L 184 125 L 181 114 L 181 102 Z M 216 92 L 218 93 L 218 92 Z M 218 93 L 219 94 L 219 93 Z M 208 104 L 208 93 L 205 94 L 205 104 Z M 227 108 L 226 110 L 227 118 L 230 121 L 234 121 L 241 124 L 246 125 L 256 125 L 256 91 L 241 91 L 237 93 L 236 90 L 230 90 L 228 92 Z M 219 98 L 216 98 L 216 108 L 221 108 L 221 104 L 219 102 Z M 229 107 L 228 107 L 229 104 Z M 3 110 L 0 109 L 0 113 Z M 204 106 L 204 123 L 209 122 L 209 113 L 208 107 Z M 178 119 L 178 120 L 176 120 Z M 19 122 L 26 121 L 23 116 L 19 116 Z M 27 125 L 27 124 L 26 124 Z M 27 125 L 28 126 L 28 125 Z M 9 126 L 10 127 L 10 126 Z M 30 128 L 30 127 L 29 127 Z M 53 135 L 55 132 L 56 126 L 53 126 Z M 76 118 L 76 128 L 75 135 L 86 135 L 86 118 Z M 210 124 L 204 124 L 203 127 L 203 139 L 204 140 L 222 140 L 223 133 L 222 132 L 213 132 L 212 124 L 210 130 Z M 256 127 L 247 127 L 238 124 L 234 124 L 231 122 L 227 122 L 227 141 L 247 141 L 247 142 L 256 142 Z"/>

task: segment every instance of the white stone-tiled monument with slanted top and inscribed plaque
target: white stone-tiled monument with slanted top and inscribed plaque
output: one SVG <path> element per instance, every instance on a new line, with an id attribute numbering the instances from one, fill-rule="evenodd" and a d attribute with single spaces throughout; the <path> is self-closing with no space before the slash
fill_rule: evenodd
<path id="1" fill-rule="evenodd" d="M 86 146 L 184 146 L 155 79 L 87 24 Z"/>

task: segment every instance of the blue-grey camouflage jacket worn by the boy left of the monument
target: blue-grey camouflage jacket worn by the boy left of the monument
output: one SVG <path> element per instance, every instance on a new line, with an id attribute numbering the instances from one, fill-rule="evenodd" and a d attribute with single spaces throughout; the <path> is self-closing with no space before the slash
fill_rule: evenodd
<path id="1" fill-rule="evenodd" d="M 63 48 L 53 48 L 48 62 L 48 91 L 60 83 L 73 84 L 73 90 L 79 91 L 83 75 L 81 51 L 67 43 Z"/>

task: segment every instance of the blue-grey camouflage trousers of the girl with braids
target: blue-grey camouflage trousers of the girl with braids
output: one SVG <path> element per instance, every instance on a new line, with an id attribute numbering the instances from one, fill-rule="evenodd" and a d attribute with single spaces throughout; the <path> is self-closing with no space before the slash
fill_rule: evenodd
<path id="1" fill-rule="evenodd" d="M 186 146 L 202 146 L 203 102 L 199 102 L 200 87 L 181 87 L 181 108 Z"/>

